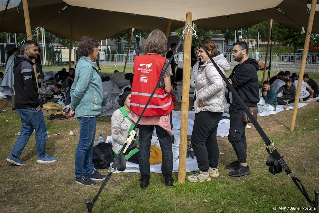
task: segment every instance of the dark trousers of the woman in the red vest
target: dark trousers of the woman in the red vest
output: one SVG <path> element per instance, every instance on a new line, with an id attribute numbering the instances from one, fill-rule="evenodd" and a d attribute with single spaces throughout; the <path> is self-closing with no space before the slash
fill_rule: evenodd
<path id="1" fill-rule="evenodd" d="M 142 175 L 149 175 L 150 170 L 150 151 L 151 140 L 154 126 L 138 125 L 140 147 L 138 151 L 138 160 L 140 172 Z M 168 132 L 160 126 L 155 126 L 156 134 L 159 138 L 160 148 L 162 149 L 162 173 L 170 174 L 173 171 L 173 151 L 172 142 Z"/>

